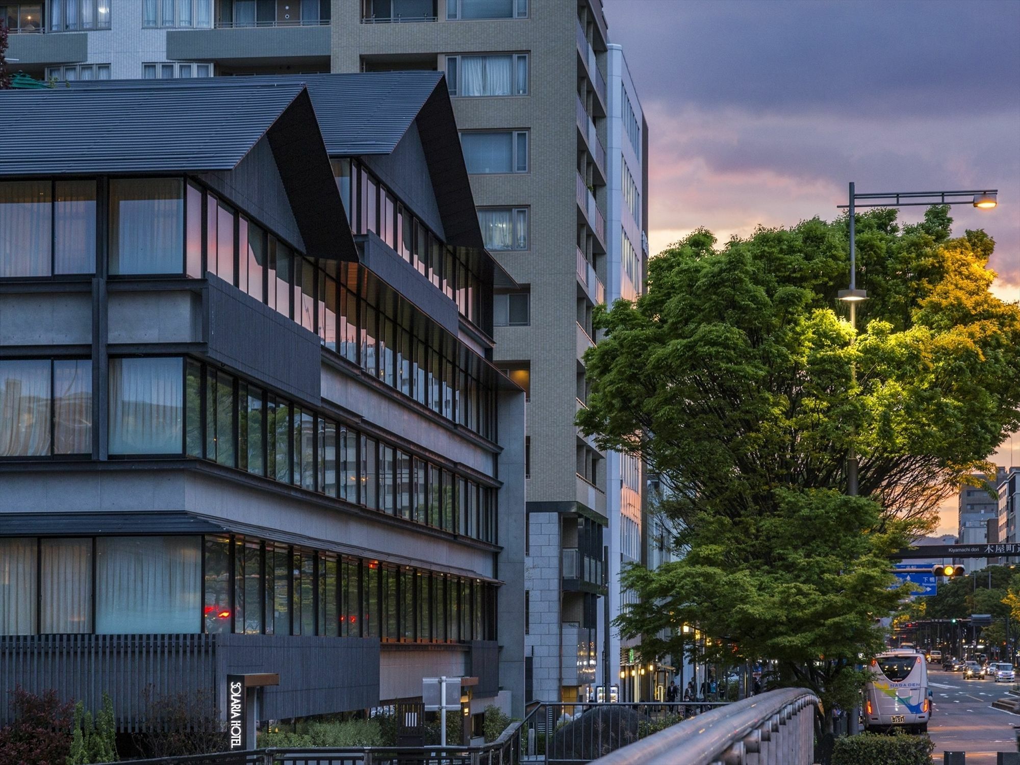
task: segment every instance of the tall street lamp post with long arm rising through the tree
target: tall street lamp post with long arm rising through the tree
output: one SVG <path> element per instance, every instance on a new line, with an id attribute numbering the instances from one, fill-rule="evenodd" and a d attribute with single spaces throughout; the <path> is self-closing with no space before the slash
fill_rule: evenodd
<path id="1" fill-rule="evenodd" d="M 836 297 L 846 302 L 850 307 L 850 326 L 854 329 L 854 338 L 857 337 L 857 304 L 862 300 L 867 300 L 868 293 L 865 290 L 857 289 L 857 207 L 929 207 L 936 204 L 953 204 L 962 202 L 968 197 L 971 204 L 979 209 L 990 209 L 999 203 L 998 189 L 980 189 L 976 191 L 942 191 L 942 192 L 891 192 L 888 194 L 858 194 L 854 182 L 850 182 L 850 195 L 846 205 L 838 205 L 838 209 L 849 208 L 850 224 L 850 288 L 839 290 Z M 858 200 L 864 200 L 863 204 L 858 204 Z M 851 385 L 857 384 L 857 365 L 850 367 Z M 850 449 L 847 452 L 847 494 L 851 497 L 858 495 L 857 479 L 857 431 L 851 430 Z M 850 714 L 850 733 L 858 732 L 859 712 L 855 707 Z"/>

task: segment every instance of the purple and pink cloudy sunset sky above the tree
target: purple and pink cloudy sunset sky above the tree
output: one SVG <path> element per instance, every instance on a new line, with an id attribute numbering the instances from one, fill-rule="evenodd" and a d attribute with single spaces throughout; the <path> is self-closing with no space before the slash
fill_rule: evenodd
<path id="1" fill-rule="evenodd" d="M 831 219 L 850 181 L 994 188 L 956 231 L 996 239 L 996 292 L 1020 299 L 1020 2 L 604 2 L 649 122 L 653 252 Z M 1020 437 L 999 459 L 1020 464 Z"/>

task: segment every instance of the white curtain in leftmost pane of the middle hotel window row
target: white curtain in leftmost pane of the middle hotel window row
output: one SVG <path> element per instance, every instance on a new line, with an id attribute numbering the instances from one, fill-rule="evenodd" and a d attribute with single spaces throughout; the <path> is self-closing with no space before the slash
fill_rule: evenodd
<path id="1" fill-rule="evenodd" d="M 49 453 L 49 360 L 0 361 L 0 457 Z"/>

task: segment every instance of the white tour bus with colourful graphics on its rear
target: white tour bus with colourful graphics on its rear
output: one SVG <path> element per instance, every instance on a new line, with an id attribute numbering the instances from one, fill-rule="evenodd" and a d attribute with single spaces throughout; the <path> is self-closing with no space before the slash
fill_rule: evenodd
<path id="1" fill-rule="evenodd" d="M 931 718 L 928 665 L 912 649 L 897 649 L 871 660 L 864 686 L 864 724 L 871 730 L 900 728 L 923 733 Z"/>

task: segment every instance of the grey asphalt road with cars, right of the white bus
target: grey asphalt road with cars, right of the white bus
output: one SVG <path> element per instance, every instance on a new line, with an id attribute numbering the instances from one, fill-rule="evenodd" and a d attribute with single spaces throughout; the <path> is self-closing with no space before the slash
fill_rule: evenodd
<path id="1" fill-rule="evenodd" d="M 994 765 L 997 752 L 1016 752 L 1011 725 L 1020 716 L 991 707 L 1006 696 L 1009 685 L 988 680 L 965 680 L 960 672 L 946 672 L 928 665 L 928 682 L 934 694 L 934 711 L 928 735 L 935 743 L 935 762 L 942 752 L 966 752 L 967 765 Z"/>

